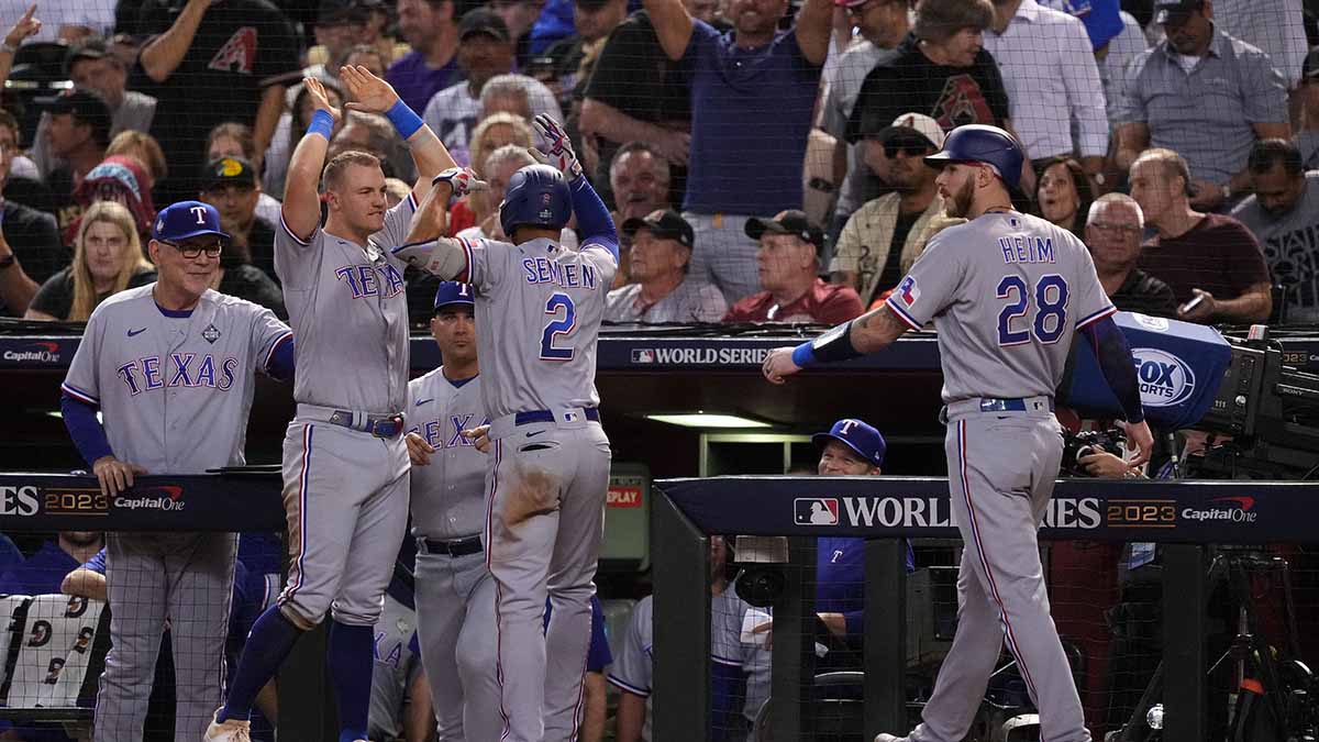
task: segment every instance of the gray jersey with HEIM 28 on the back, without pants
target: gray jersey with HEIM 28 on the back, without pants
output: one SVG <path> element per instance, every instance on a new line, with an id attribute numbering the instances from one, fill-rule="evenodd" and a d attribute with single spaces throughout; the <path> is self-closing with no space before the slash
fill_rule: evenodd
<path id="1" fill-rule="evenodd" d="M 1014 211 L 935 235 L 888 305 L 934 320 L 944 403 L 1053 396 L 1075 330 L 1116 312 L 1075 235 Z"/>

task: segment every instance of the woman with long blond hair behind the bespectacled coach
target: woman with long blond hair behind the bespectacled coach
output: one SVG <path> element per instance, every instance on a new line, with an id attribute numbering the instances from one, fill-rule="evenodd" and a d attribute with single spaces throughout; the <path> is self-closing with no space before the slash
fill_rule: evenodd
<path id="1" fill-rule="evenodd" d="M 86 322 L 107 297 L 154 280 L 137 219 L 121 203 L 98 201 L 83 211 L 74 261 L 42 284 L 24 318 Z"/>

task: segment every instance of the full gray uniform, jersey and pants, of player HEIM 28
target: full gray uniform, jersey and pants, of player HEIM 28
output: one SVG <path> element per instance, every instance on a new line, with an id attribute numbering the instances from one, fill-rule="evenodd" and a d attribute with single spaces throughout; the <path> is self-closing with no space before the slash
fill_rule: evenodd
<path id="1" fill-rule="evenodd" d="M 1039 709 L 1039 738 L 1088 742 L 1035 529 L 1062 458 L 1051 397 L 1072 337 L 1115 312 L 1089 253 L 1043 219 L 984 214 L 939 232 L 888 305 L 939 330 L 948 489 L 966 544 L 958 632 L 909 739 L 966 735 L 1006 640 Z"/>

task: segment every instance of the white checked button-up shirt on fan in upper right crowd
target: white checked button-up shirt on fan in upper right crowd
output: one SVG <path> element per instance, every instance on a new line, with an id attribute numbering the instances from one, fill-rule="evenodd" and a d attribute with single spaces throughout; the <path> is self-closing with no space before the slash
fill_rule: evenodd
<path id="1" fill-rule="evenodd" d="M 1080 20 L 1021 0 L 1002 34 L 984 33 L 984 48 L 998 62 L 1012 125 L 1031 160 L 1108 152 L 1104 87 Z"/>

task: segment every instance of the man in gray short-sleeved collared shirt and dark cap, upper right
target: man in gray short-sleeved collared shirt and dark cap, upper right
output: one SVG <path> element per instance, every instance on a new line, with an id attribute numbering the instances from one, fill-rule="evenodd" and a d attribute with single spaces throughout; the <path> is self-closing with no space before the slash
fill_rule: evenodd
<path id="1" fill-rule="evenodd" d="M 1191 169 L 1191 206 L 1202 211 L 1248 189 L 1256 140 L 1291 136 L 1282 74 L 1212 18 L 1210 0 L 1158 0 L 1154 22 L 1167 38 L 1132 61 L 1113 111 L 1117 166 L 1129 169 L 1146 148 L 1177 151 Z"/>

